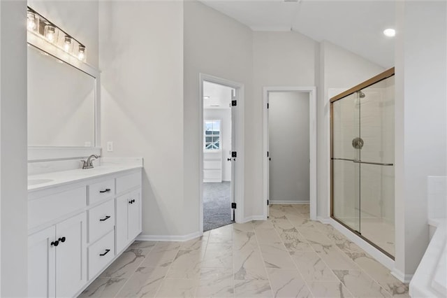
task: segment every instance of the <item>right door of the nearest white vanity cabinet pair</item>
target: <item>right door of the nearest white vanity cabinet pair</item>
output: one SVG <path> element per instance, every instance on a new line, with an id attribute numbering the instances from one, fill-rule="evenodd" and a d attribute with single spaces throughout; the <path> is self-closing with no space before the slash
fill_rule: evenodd
<path id="1" fill-rule="evenodd" d="M 56 225 L 56 295 L 73 297 L 87 283 L 87 216 L 73 216 Z"/>

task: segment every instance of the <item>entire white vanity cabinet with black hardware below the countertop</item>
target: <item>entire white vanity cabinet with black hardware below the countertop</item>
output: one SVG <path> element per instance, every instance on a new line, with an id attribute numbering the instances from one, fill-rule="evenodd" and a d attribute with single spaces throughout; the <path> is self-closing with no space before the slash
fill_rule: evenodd
<path id="1" fill-rule="evenodd" d="M 28 208 L 28 296 L 75 297 L 140 234 L 141 169 L 29 192 Z"/>

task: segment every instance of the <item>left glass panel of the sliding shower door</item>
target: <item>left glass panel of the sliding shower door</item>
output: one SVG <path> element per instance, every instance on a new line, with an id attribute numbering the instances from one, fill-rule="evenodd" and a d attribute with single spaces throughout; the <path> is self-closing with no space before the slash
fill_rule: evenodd
<path id="1" fill-rule="evenodd" d="M 360 232 L 360 106 L 357 93 L 332 104 L 332 215 Z"/>

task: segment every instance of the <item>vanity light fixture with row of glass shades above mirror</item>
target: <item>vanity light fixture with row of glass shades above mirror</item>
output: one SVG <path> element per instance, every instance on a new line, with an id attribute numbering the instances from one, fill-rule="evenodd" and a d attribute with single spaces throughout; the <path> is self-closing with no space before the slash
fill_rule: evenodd
<path id="1" fill-rule="evenodd" d="M 85 45 L 47 20 L 40 13 L 37 13 L 33 8 L 28 6 L 27 9 L 27 29 L 29 33 L 42 38 L 57 48 L 64 50 L 69 55 L 85 62 L 87 57 Z M 61 38 L 58 39 L 58 36 L 61 36 Z"/>

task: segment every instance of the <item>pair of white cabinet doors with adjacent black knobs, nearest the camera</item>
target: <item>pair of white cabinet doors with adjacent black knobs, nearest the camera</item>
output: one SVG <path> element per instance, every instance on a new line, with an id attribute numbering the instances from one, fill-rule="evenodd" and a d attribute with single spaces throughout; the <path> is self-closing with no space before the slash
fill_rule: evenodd
<path id="1" fill-rule="evenodd" d="M 86 222 L 80 213 L 29 236 L 29 297 L 73 297 L 85 285 Z"/>

